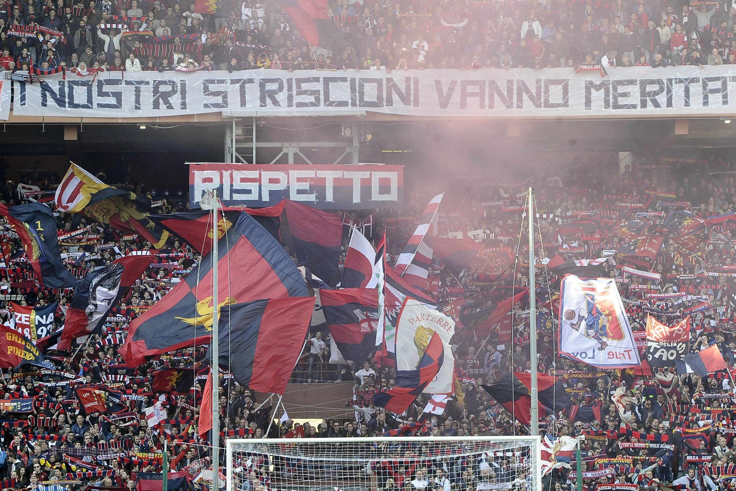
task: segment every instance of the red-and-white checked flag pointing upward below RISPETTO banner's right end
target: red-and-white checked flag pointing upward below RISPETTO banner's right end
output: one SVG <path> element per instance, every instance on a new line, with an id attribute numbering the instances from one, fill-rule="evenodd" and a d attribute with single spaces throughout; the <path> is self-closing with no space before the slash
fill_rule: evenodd
<path id="1" fill-rule="evenodd" d="M 443 196 L 445 193 L 437 194 L 428 203 L 417 229 L 414 230 L 414 234 L 409 238 L 394 265 L 394 271 L 411 285 L 424 286 L 429 275 L 429 266 L 434 253 L 432 237 L 436 236 L 435 217 Z"/>

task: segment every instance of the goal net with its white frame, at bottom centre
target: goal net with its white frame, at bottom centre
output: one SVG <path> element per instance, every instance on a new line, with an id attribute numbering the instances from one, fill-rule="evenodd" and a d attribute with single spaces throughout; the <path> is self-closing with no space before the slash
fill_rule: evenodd
<path id="1" fill-rule="evenodd" d="M 227 491 L 541 490 L 539 437 L 227 439 Z"/>

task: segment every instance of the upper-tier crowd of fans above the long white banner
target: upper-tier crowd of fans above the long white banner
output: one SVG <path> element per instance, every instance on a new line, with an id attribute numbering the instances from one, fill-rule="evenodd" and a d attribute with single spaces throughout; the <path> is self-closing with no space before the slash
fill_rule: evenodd
<path id="1" fill-rule="evenodd" d="M 332 51 L 312 49 L 277 1 L 4 0 L 0 66 L 86 73 L 736 63 L 736 7 L 728 1 L 329 4 Z"/>

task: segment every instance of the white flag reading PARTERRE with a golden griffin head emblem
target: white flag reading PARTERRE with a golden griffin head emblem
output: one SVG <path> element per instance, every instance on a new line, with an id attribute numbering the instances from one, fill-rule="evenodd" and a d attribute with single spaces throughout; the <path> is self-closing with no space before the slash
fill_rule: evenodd
<path id="1" fill-rule="evenodd" d="M 416 370 L 429 339 L 436 333 L 444 345 L 444 359 L 437 375 L 422 390 L 425 394 L 453 392 L 455 359 L 450 338 L 455 333 L 455 321 L 433 310 L 419 300 L 406 297 L 396 326 L 396 369 Z"/>

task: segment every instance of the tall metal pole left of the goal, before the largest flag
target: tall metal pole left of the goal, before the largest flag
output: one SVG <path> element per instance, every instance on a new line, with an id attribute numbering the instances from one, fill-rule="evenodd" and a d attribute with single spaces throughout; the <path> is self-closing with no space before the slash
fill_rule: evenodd
<path id="1" fill-rule="evenodd" d="M 212 361 L 210 362 L 210 376 L 212 377 L 212 491 L 220 487 L 220 407 L 219 407 L 219 308 L 218 308 L 218 280 L 217 266 L 219 254 L 217 251 L 219 201 L 217 191 L 213 191 L 214 203 L 212 207 Z"/>

